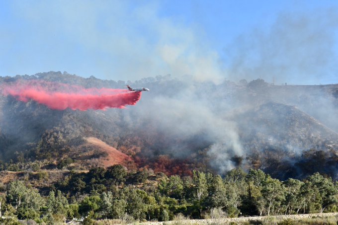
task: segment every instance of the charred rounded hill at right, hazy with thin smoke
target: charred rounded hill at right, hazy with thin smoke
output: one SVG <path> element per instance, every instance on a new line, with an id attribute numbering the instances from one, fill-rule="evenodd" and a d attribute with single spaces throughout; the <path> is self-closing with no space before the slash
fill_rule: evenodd
<path id="1" fill-rule="evenodd" d="M 317 171 L 336 177 L 336 166 L 323 165 L 337 162 L 333 157 L 338 153 L 338 134 L 297 107 L 268 102 L 239 115 L 238 120 L 239 129 L 245 131 L 241 141 L 251 149 L 247 159 L 255 168 L 280 179 Z"/>

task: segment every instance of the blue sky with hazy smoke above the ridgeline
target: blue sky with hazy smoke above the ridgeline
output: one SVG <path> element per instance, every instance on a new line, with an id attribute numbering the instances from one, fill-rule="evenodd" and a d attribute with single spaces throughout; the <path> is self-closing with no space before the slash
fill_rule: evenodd
<path id="1" fill-rule="evenodd" d="M 1 0 L 0 75 L 338 83 L 337 0 Z"/>

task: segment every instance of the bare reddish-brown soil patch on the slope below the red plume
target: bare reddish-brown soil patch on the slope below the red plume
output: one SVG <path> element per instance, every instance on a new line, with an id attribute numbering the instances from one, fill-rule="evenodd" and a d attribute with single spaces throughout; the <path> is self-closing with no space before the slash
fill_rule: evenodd
<path id="1" fill-rule="evenodd" d="M 128 162 L 133 162 L 133 159 L 130 156 L 107 145 L 106 143 L 102 142 L 101 140 L 97 138 L 88 137 L 88 138 L 85 138 L 85 141 L 87 143 L 84 145 L 89 145 L 91 147 L 94 147 L 95 150 L 104 151 L 108 154 L 108 156 L 106 157 L 99 158 L 100 163 L 102 163 L 104 167 L 108 167 L 108 166 L 116 165 L 116 164 L 126 165 Z"/>

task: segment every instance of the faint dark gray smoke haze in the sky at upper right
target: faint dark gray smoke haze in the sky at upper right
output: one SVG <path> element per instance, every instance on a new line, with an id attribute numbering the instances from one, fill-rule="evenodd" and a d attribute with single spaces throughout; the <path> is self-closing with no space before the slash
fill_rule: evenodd
<path id="1" fill-rule="evenodd" d="M 258 77 L 276 84 L 336 83 L 337 28 L 337 7 L 281 13 L 267 32 L 257 28 L 227 46 L 225 67 L 233 80 Z"/>

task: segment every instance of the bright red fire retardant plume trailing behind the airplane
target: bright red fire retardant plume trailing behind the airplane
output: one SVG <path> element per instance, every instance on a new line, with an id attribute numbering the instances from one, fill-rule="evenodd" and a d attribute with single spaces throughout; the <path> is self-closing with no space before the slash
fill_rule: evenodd
<path id="1" fill-rule="evenodd" d="M 23 102 L 34 100 L 56 110 L 125 108 L 126 105 L 135 105 L 141 98 L 140 91 L 84 88 L 43 80 L 17 80 L 2 84 L 0 89 L 5 96 L 11 95 Z"/>

